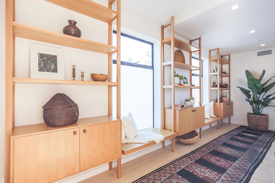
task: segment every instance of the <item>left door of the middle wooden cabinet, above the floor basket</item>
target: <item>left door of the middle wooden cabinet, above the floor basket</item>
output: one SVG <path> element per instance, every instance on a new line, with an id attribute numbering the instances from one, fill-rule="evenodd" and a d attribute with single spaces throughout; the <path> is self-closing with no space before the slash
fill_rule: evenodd
<path id="1" fill-rule="evenodd" d="M 191 109 L 179 111 L 179 135 L 194 129 L 194 116 Z"/>

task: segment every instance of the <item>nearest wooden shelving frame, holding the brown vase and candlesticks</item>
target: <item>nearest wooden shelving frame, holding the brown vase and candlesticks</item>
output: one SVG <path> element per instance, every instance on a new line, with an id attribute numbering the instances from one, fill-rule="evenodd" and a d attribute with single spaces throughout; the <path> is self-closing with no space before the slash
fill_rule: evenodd
<path id="1" fill-rule="evenodd" d="M 112 82 L 112 54 L 117 54 L 117 60 L 120 60 L 120 34 L 121 34 L 121 0 L 109 0 L 108 7 L 100 5 L 90 0 L 46 0 L 61 7 L 73 10 L 83 15 L 90 16 L 100 21 L 108 23 L 108 44 L 98 43 L 91 40 L 85 40 L 49 30 L 24 25 L 15 21 L 15 2 L 14 0 L 5 0 L 5 182 L 13 181 L 13 169 L 11 161 L 11 137 L 22 133 L 49 132 L 58 130 L 50 128 L 44 123 L 36 125 L 26 125 L 15 127 L 15 87 L 17 83 L 34 84 L 68 84 L 68 85 L 96 85 L 108 86 L 108 115 L 103 117 L 93 117 L 88 119 L 79 119 L 79 121 L 68 128 L 75 128 L 79 125 L 89 123 L 100 124 L 106 121 L 120 120 L 120 61 L 117 62 L 116 82 Z M 112 4 L 116 1 L 116 11 L 112 10 Z M 117 47 L 112 46 L 112 22 L 116 20 L 117 26 Z M 21 37 L 36 41 L 42 41 L 51 44 L 58 44 L 77 49 L 88 50 L 108 55 L 108 75 L 107 82 L 97 81 L 73 81 L 73 80 L 53 80 L 36 78 L 17 78 L 15 76 L 15 37 Z M 112 87 L 117 89 L 117 114 L 112 117 Z M 65 127 L 66 128 L 66 127 Z M 120 127 L 121 128 L 121 127 Z M 33 129 L 33 131 L 31 131 Z M 121 140 L 121 138 L 120 138 Z M 42 142 L 41 142 L 42 143 Z M 119 147 L 119 146 L 118 146 Z M 120 146 L 121 148 L 121 146 Z M 120 150 L 122 152 L 122 150 Z M 121 153 L 117 159 L 117 177 L 121 178 Z M 115 160 L 115 159 L 113 159 Z M 112 168 L 112 162 L 109 162 L 109 169 Z M 66 177 L 67 178 L 67 177 Z"/>

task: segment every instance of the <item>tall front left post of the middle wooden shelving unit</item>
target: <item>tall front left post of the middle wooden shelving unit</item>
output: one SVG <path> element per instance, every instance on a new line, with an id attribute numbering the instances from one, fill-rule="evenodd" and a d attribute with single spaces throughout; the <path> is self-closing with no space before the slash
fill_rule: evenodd
<path id="1" fill-rule="evenodd" d="M 175 40 L 174 40 L 174 16 L 171 16 L 171 92 L 172 92 L 172 131 L 174 132 L 175 122 L 175 64 L 174 64 L 174 52 L 175 52 Z"/>

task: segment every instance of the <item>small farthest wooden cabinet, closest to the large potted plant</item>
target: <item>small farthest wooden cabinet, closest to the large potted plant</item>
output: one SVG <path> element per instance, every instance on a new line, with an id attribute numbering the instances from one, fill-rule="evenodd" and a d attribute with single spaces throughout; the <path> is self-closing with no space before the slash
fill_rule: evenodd
<path id="1" fill-rule="evenodd" d="M 233 116 L 233 102 L 220 102 L 219 113 L 218 103 L 214 102 L 214 114 L 222 118 Z"/>

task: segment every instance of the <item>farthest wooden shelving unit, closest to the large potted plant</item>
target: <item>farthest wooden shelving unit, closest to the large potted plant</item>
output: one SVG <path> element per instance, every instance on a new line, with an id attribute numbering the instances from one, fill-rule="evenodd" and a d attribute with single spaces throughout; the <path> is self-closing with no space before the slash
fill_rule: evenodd
<path id="1" fill-rule="evenodd" d="M 213 52 L 215 52 L 217 57 L 213 57 L 213 58 L 211 57 L 211 54 Z M 224 59 L 223 57 L 227 57 L 227 60 Z M 218 72 L 211 72 L 211 70 L 212 70 L 211 61 L 217 63 L 217 71 Z M 228 74 L 222 73 L 224 65 L 228 65 Z M 212 82 L 211 82 L 212 76 L 217 77 L 217 82 L 216 82 L 217 87 L 215 87 L 215 88 L 213 88 L 213 86 L 212 86 Z M 223 78 L 225 78 L 225 77 L 228 77 L 228 88 L 221 88 L 219 83 L 223 84 Z M 229 116 L 229 124 L 230 124 L 230 115 L 231 115 L 231 112 L 229 112 L 229 113 L 226 112 L 226 115 L 223 116 L 223 115 L 221 115 L 221 113 L 223 114 L 223 111 L 220 111 L 220 110 L 232 111 L 232 114 L 233 114 L 233 103 L 230 106 L 230 108 L 228 108 L 228 107 L 223 108 L 223 107 L 221 107 L 221 106 L 223 106 L 223 103 L 220 103 L 220 100 L 219 100 L 219 97 L 222 96 L 222 91 L 227 90 L 228 91 L 228 101 L 227 102 L 230 103 L 230 54 L 220 56 L 219 48 L 209 50 L 209 102 L 211 102 L 211 91 L 212 90 L 217 91 L 218 101 L 217 102 L 214 101 L 214 111 L 215 111 L 215 115 L 217 117 L 213 118 L 212 120 L 205 119 L 205 125 L 209 124 L 211 127 L 211 123 L 218 122 L 218 128 L 219 128 L 219 120 L 222 121 L 222 119 L 224 119 L 225 116 L 226 117 Z"/>

